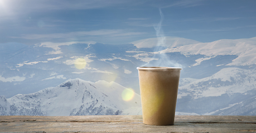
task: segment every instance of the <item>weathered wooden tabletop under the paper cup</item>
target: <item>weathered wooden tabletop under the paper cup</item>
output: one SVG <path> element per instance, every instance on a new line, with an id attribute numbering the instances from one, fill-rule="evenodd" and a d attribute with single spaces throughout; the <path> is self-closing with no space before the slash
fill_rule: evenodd
<path id="1" fill-rule="evenodd" d="M 256 132 L 256 116 L 175 116 L 152 126 L 142 116 L 0 116 L 0 132 Z"/>

